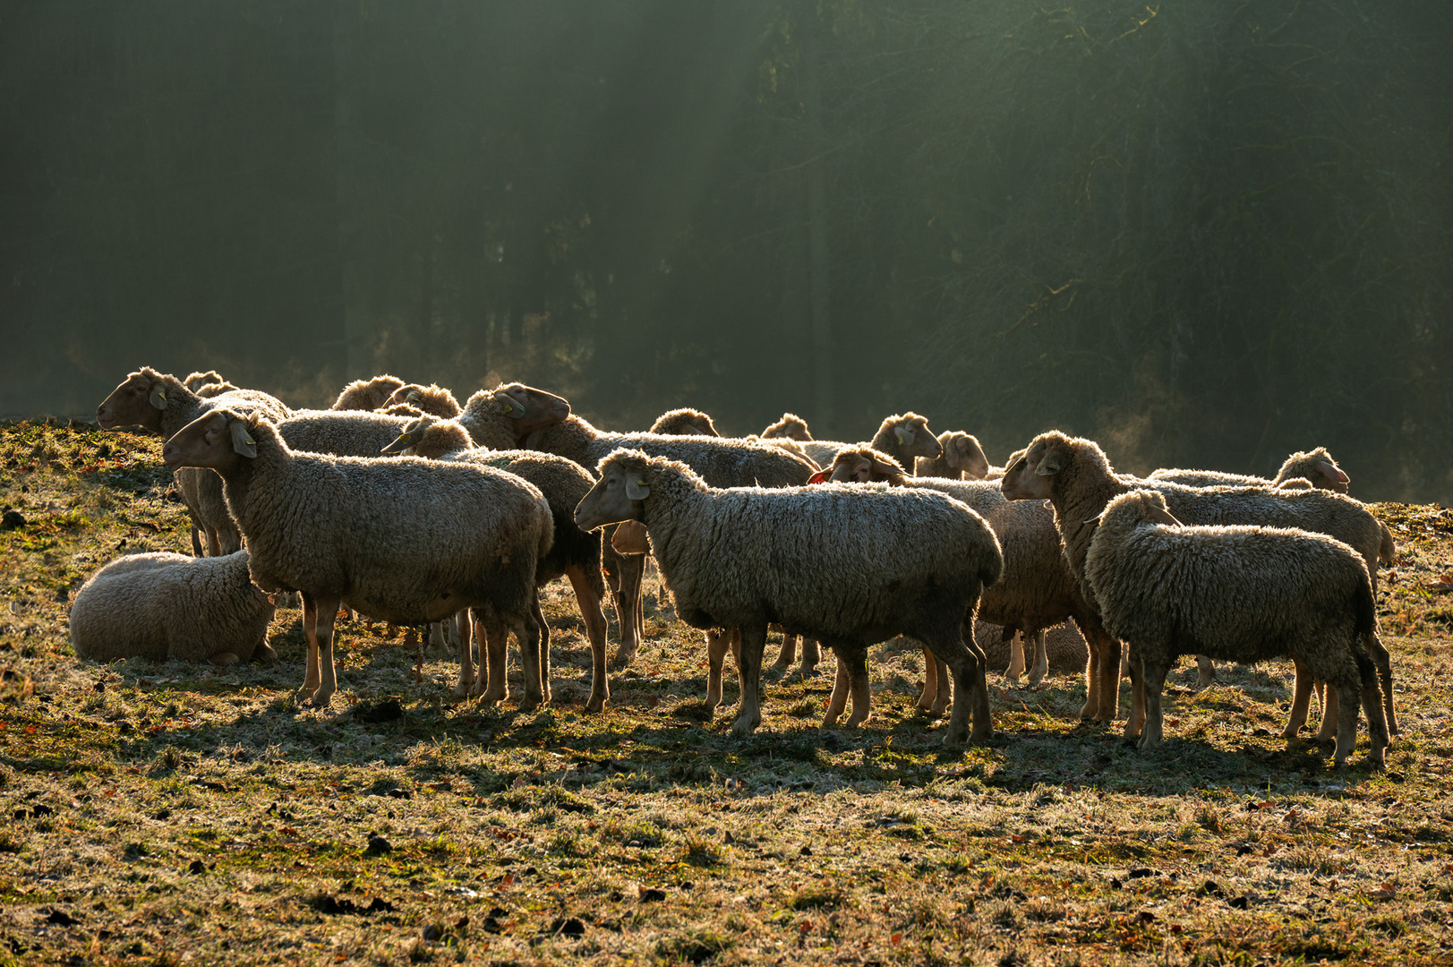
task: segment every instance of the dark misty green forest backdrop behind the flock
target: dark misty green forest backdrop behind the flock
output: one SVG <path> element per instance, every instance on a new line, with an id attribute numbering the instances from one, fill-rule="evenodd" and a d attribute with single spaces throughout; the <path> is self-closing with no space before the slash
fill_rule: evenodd
<path id="1" fill-rule="evenodd" d="M 1453 4 L 15 0 L 0 414 L 215 368 L 1453 500 Z"/>

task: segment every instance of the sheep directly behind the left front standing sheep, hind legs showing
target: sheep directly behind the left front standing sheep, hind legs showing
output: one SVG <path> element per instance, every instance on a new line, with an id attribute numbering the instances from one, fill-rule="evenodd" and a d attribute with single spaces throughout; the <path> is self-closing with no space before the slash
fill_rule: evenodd
<path id="1" fill-rule="evenodd" d="M 549 554 L 539 558 L 535 583 L 543 586 L 561 576 L 570 579 L 570 585 L 575 590 L 575 603 L 580 606 L 580 617 L 586 622 L 586 637 L 590 641 L 591 686 L 586 711 L 602 711 L 610 697 L 610 686 L 606 681 L 606 617 L 600 609 L 600 601 L 606 593 L 606 585 L 600 574 L 600 535 L 586 534 L 575 526 L 571 516 L 594 478 L 577 462 L 554 454 L 526 449 L 475 449 L 468 430 L 458 422 L 436 420 L 432 416 L 410 420 L 400 430 L 398 439 L 385 446 L 384 452 L 494 467 L 516 474 L 539 489 L 549 503 L 555 522 L 555 544 Z M 548 635 L 549 630 L 543 628 L 539 667 L 542 695 L 546 701 L 549 699 Z M 461 638 L 461 643 L 464 641 Z M 459 681 L 465 683 L 472 679 L 472 694 L 478 695 L 487 705 L 509 698 L 509 685 L 504 676 L 504 634 L 498 628 L 494 630 L 494 634 L 487 631 L 479 638 L 481 673 L 477 679 L 474 679 L 471 649 L 461 649 Z M 485 654 L 485 647 L 488 647 L 488 654 Z M 485 672 L 488 673 L 488 689 L 484 688 Z M 465 694 L 469 694 L 469 689 L 461 691 L 459 697 L 464 698 Z"/>

